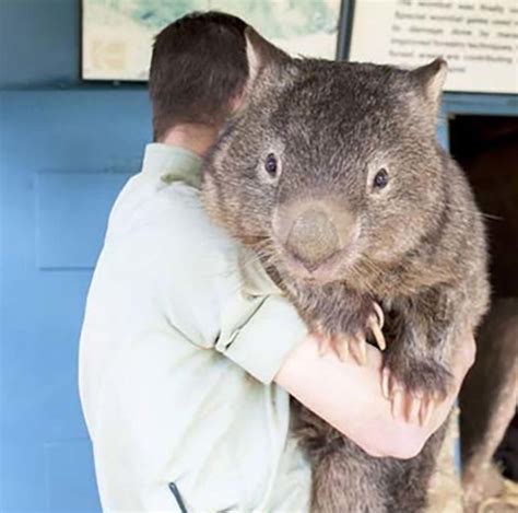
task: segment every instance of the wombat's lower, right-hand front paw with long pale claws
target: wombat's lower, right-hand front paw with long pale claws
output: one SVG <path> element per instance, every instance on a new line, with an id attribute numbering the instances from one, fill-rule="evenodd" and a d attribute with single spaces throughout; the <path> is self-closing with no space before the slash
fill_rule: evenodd
<path id="1" fill-rule="evenodd" d="M 381 374 L 382 393 L 392 403 L 392 416 L 426 424 L 446 399 L 451 374 L 435 361 L 408 354 L 387 354 Z"/>

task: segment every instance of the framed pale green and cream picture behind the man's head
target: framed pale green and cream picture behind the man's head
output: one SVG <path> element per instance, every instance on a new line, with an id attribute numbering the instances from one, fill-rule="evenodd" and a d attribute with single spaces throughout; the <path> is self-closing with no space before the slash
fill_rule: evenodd
<path id="1" fill-rule="evenodd" d="M 341 0 L 82 0 L 82 78 L 145 81 L 154 36 L 190 11 L 235 14 L 292 55 L 337 56 Z"/>

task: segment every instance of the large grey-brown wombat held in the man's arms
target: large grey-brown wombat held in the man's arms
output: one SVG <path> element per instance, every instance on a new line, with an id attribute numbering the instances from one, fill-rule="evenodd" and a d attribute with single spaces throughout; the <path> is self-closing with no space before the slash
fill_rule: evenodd
<path id="1" fill-rule="evenodd" d="M 423 420 L 488 301 L 482 217 L 436 141 L 445 62 L 293 59 L 246 36 L 248 84 L 208 156 L 205 208 L 342 355 L 361 361 L 373 336 L 384 345 L 380 305 L 385 393 Z M 398 460 L 368 456 L 307 410 L 302 422 L 315 511 L 424 508 L 444 430 Z"/>

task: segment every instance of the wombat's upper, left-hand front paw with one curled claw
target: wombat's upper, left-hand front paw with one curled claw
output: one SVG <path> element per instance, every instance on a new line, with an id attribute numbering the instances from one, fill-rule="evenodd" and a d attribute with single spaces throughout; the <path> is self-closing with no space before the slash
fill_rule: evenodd
<path id="1" fill-rule="evenodd" d="M 316 327 L 319 352 L 323 354 L 331 349 L 342 361 L 351 354 L 358 364 L 365 365 L 367 362 L 367 337 L 372 337 L 381 350 L 386 348 L 382 327 L 384 312 L 376 302 L 372 303 L 370 311 L 366 312 L 364 318 L 348 316 L 340 323 L 339 329 L 337 326 L 328 328 L 319 323 Z"/>

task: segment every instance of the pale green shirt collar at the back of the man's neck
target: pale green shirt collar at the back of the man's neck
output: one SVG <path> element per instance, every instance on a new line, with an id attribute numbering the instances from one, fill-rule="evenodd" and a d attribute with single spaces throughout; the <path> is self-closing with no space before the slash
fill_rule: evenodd
<path id="1" fill-rule="evenodd" d="M 145 147 L 142 173 L 158 175 L 163 182 L 184 182 L 196 188 L 201 186 L 203 159 L 180 147 L 153 142 Z"/>

